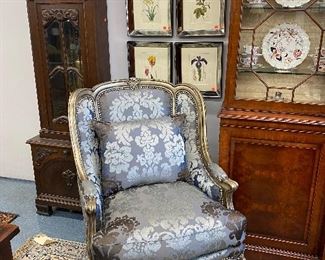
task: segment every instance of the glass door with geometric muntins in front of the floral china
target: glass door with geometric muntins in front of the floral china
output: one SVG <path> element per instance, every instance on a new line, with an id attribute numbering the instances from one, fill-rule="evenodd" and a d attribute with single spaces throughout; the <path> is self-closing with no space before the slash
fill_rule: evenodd
<path id="1" fill-rule="evenodd" d="M 325 104 L 325 0 L 244 0 L 236 99 Z"/>

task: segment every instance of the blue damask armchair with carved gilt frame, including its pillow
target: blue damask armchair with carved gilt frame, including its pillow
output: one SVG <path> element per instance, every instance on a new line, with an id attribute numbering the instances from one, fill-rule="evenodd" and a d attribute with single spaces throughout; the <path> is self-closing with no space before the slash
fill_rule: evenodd
<path id="1" fill-rule="evenodd" d="M 130 79 L 79 89 L 69 127 L 90 259 L 243 258 L 238 185 L 211 162 L 197 88 Z"/>

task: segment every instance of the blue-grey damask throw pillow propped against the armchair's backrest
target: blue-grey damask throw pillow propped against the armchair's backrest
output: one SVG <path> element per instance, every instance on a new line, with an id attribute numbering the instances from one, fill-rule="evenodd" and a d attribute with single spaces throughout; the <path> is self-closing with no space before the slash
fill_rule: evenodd
<path id="1" fill-rule="evenodd" d="M 94 121 L 104 196 L 186 176 L 183 115 L 120 123 Z"/>

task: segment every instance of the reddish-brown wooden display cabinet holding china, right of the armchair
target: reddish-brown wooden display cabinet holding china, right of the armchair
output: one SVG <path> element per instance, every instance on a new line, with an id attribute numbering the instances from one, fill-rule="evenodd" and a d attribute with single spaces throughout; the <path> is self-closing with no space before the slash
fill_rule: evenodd
<path id="1" fill-rule="evenodd" d="M 220 165 L 247 259 L 325 259 L 325 1 L 231 1 Z"/>

